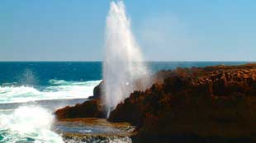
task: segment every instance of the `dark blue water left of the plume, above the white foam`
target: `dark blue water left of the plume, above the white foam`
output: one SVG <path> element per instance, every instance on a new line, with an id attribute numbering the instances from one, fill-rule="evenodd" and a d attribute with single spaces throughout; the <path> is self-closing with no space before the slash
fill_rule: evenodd
<path id="1" fill-rule="evenodd" d="M 0 84 L 48 85 L 49 81 L 102 79 L 102 62 L 0 62 Z"/>

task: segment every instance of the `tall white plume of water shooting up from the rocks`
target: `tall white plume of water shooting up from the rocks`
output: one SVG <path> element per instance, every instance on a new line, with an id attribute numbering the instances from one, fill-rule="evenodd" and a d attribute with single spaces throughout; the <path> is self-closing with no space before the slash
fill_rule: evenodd
<path id="1" fill-rule="evenodd" d="M 110 111 L 132 91 L 143 90 L 147 85 L 148 70 L 130 30 L 130 20 L 122 1 L 111 2 L 106 20 L 105 50 L 104 99 L 109 116 Z"/>

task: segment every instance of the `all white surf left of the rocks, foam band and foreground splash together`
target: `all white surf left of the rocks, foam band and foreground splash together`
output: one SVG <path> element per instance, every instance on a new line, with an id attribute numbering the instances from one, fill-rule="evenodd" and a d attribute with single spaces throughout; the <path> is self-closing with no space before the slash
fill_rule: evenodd
<path id="1" fill-rule="evenodd" d="M 94 87 L 100 82 L 49 80 L 44 86 L 0 85 L 0 143 L 64 142 L 52 127 L 53 112 L 56 107 L 73 104 L 69 99 L 82 102 L 92 96 Z M 57 101 L 53 103 L 54 100 Z M 40 104 L 41 101 L 45 102 Z M 55 108 L 50 108 L 51 104 Z"/>

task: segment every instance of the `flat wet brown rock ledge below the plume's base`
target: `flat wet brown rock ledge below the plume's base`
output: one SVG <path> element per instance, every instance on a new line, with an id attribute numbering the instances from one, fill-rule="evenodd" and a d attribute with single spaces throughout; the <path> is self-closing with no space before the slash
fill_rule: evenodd
<path id="1" fill-rule="evenodd" d="M 60 119 L 53 127 L 63 136 L 64 142 L 128 143 L 135 127 L 128 122 L 107 122 L 100 118 Z"/>

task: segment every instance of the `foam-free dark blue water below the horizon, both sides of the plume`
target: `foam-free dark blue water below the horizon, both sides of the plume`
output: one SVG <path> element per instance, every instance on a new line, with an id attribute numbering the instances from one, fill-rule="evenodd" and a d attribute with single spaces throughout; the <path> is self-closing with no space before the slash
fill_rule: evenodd
<path id="1" fill-rule="evenodd" d="M 246 62 L 147 62 L 151 71 L 176 67 L 239 65 Z M 0 62 L 0 85 L 49 85 L 49 81 L 96 81 L 102 79 L 102 62 Z"/>

